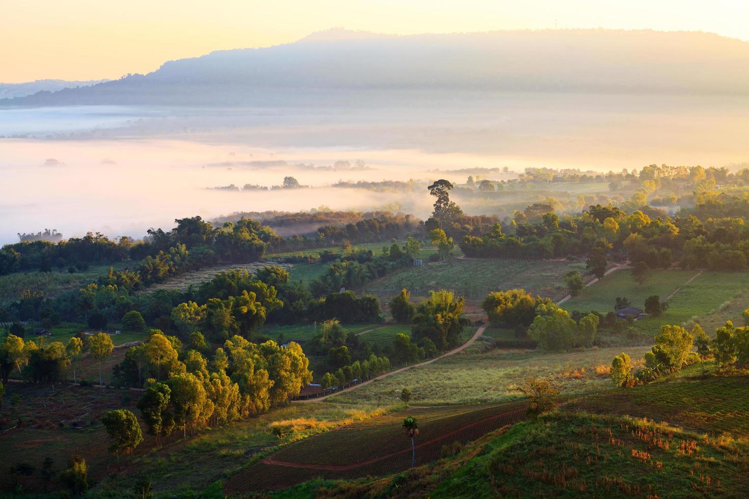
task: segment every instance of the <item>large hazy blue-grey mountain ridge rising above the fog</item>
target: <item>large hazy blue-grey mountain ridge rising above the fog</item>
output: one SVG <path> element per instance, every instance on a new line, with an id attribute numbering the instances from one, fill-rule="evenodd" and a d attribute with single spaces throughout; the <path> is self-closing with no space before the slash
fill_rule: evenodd
<path id="1" fill-rule="evenodd" d="M 688 31 L 395 36 L 334 29 L 0 106 L 314 104 L 331 93 L 395 90 L 749 94 L 749 43 Z"/>

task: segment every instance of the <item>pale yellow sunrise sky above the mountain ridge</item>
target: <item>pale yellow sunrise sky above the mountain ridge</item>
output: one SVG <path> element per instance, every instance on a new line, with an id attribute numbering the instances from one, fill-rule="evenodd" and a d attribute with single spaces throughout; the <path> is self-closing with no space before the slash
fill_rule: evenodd
<path id="1" fill-rule="evenodd" d="M 748 0 L 25 0 L 0 7 L 0 82 L 116 79 L 213 50 L 343 27 L 709 31 L 749 40 Z"/>

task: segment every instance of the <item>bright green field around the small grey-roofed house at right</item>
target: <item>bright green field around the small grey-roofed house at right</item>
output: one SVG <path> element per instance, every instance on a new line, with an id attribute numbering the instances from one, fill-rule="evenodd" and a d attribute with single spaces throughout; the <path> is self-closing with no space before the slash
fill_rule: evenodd
<path id="1" fill-rule="evenodd" d="M 691 278 L 694 279 L 685 284 Z M 664 324 L 691 327 L 692 323 L 700 322 L 705 331 L 712 334 L 715 327 L 722 325 L 727 318 L 739 319 L 739 307 L 741 310 L 747 307 L 739 297 L 743 295 L 749 298 L 745 294 L 748 287 L 749 272 L 655 270 L 640 287 L 631 278 L 631 272 L 620 270 L 587 287 L 580 296 L 565 301 L 562 308 L 606 313 L 613 311 L 617 296 L 625 296 L 634 307 L 644 308 L 648 296 L 658 295 L 664 299 L 676 292 L 668 300 L 668 310 L 662 316 L 640 319 L 635 322 L 634 328 L 649 338 L 658 333 Z M 732 306 L 732 312 L 727 316 L 724 309 Z M 706 319 L 704 324 L 703 317 Z"/>

